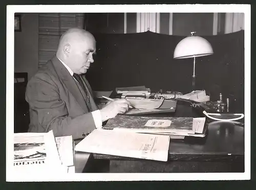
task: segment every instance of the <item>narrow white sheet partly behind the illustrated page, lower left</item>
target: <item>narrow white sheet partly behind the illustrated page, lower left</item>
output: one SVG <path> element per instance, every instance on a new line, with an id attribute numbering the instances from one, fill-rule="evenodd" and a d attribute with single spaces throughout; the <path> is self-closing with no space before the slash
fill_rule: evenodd
<path id="1" fill-rule="evenodd" d="M 65 137 L 55 138 L 59 157 L 62 165 L 73 166 L 74 165 L 74 154 L 73 154 L 73 139 L 72 135 Z"/>

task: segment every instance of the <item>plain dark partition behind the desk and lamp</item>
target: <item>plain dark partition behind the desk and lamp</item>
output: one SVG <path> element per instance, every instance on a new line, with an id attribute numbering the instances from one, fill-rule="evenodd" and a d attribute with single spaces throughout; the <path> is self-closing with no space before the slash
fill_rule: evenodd
<path id="1" fill-rule="evenodd" d="M 153 92 L 191 91 L 193 59 L 173 59 L 174 49 L 184 37 L 152 32 L 94 34 L 95 62 L 87 73 L 94 90 L 145 85 Z M 202 36 L 214 55 L 196 58 L 196 88 L 205 89 L 211 100 L 224 98 L 244 103 L 244 31 Z"/>

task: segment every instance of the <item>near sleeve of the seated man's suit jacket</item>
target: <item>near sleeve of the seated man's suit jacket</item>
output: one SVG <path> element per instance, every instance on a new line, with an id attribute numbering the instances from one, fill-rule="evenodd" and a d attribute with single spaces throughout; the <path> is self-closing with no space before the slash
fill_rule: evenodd
<path id="1" fill-rule="evenodd" d="M 55 137 L 72 135 L 83 138 L 96 128 L 92 113 L 69 116 L 65 101 L 61 100 L 57 85 L 50 76 L 39 73 L 27 86 L 26 100 L 30 104 L 30 132 L 48 132 Z"/>

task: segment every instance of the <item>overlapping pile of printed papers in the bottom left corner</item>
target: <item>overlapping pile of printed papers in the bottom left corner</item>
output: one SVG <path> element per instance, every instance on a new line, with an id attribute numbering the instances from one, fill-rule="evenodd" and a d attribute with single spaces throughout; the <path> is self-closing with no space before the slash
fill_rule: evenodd
<path id="1" fill-rule="evenodd" d="M 15 174 L 74 173 L 72 136 L 54 138 L 46 133 L 14 133 Z"/>

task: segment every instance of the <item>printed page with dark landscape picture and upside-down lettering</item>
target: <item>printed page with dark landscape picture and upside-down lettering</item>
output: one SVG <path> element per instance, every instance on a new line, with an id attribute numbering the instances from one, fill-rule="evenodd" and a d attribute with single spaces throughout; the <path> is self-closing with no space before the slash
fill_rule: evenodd
<path id="1" fill-rule="evenodd" d="M 65 172 L 52 131 L 14 133 L 15 172 Z"/>

